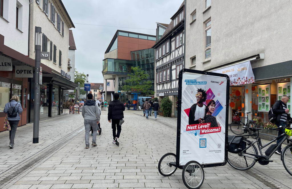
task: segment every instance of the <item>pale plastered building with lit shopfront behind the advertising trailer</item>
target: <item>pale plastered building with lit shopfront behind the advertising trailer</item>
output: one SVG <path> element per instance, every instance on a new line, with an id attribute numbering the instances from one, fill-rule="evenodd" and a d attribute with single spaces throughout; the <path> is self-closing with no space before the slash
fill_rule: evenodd
<path id="1" fill-rule="evenodd" d="M 291 5 L 186 1 L 186 68 L 229 75 L 229 123 L 239 109 L 266 124 L 276 100 L 290 96 L 292 55 L 284 52 L 292 46 L 292 26 L 284 18 L 292 17 Z"/>

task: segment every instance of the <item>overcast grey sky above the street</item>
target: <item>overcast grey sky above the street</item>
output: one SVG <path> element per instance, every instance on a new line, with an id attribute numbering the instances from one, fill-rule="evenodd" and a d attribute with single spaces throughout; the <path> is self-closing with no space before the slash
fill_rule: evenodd
<path id="1" fill-rule="evenodd" d="M 116 31 L 156 35 L 155 22 L 169 24 L 171 16 L 178 10 L 183 0 L 62 0 L 62 2 L 75 25 L 75 28 L 71 28 L 77 48 L 75 68 L 78 72 L 89 74 L 89 82 L 103 83 L 102 60 Z"/>

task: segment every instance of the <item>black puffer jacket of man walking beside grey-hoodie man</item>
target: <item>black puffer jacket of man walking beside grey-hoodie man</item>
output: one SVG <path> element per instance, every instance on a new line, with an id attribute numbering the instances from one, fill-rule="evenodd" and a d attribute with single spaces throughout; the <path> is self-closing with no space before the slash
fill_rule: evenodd
<path id="1" fill-rule="evenodd" d="M 125 111 L 125 105 L 120 100 L 113 100 L 111 103 L 109 103 L 107 120 L 123 119 L 123 111 Z"/>

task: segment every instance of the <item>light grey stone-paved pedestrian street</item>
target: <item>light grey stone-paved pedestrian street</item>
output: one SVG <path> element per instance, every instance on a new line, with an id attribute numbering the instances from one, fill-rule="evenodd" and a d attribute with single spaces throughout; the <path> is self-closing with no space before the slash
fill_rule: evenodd
<path id="1" fill-rule="evenodd" d="M 32 124 L 18 128 L 14 149 L 8 148 L 9 132 L 0 133 L 0 181 L 9 177 L 13 169 L 48 150 L 44 159 L 0 188 L 186 188 L 181 170 L 164 177 L 157 169 L 162 155 L 176 153 L 177 119 L 158 116 L 155 120 L 151 116 L 146 120 L 141 111 L 132 110 L 126 110 L 124 115 L 119 147 L 112 144 L 111 124 L 105 111 L 101 115 L 98 146 L 89 149 L 85 149 L 81 115 L 40 122 L 39 144 L 32 144 Z M 50 151 L 56 144 L 56 150 Z M 292 188 L 292 177 L 284 169 L 280 156 L 272 158 L 274 162 L 267 166 L 256 163 L 247 171 L 235 170 L 228 163 L 204 168 L 201 188 Z"/>

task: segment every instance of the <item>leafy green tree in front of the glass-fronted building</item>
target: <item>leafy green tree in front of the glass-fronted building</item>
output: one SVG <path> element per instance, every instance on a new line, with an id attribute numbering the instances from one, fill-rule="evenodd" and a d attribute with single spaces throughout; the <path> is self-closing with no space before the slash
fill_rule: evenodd
<path id="1" fill-rule="evenodd" d="M 149 75 L 144 70 L 141 70 L 140 67 L 131 67 L 131 69 L 133 73 L 128 74 L 130 79 L 126 79 L 126 85 L 123 86 L 123 90 L 153 95 L 154 91 L 149 90 L 152 87 L 152 82 L 147 81 Z"/>

